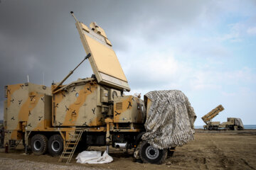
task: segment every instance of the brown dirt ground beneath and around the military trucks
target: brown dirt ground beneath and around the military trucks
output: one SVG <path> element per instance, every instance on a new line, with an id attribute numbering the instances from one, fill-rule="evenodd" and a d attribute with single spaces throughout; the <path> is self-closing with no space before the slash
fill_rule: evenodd
<path id="1" fill-rule="evenodd" d="M 89 149 L 105 150 L 105 147 Z M 110 149 L 114 161 L 110 164 L 59 163 L 58 157 L 23 154 L 23 149 L 0 152 L 0 169 L 256 169 L 256 130 L 205 131 L 196 130 L 195 140 L 177 147 L 166 164 L 141 164 L 134 162 L 132 150 Z M 34 167 L 34 168 L 31 168 Z M 37 167 L 37 168 L 35 168 Z"/>

